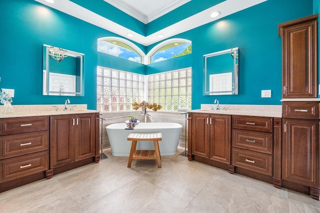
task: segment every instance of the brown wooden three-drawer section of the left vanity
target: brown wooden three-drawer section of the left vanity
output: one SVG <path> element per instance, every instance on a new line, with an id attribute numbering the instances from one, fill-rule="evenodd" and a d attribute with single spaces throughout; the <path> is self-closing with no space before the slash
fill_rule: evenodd
<path id="1" fill-rule="evenodd" d="M 0 192 L 45 178 L 48 116 L 0 119 Z"/>

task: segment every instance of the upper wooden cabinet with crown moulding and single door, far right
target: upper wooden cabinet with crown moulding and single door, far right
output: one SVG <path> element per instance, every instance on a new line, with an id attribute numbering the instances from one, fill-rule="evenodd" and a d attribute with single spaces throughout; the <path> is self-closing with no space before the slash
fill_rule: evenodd
<path id="1" fill-rule="evenodd" d="M 317 15 L 279 24 L 283 98 L 317 97 Z"/>

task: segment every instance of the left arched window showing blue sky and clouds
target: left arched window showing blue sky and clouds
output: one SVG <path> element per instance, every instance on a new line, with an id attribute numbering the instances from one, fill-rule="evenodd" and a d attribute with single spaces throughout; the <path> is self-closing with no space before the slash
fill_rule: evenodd
<path id="1" fill-rule="evenodd" d="M 97 41 L 97 51 L 137 63 L 143 62 L 145 54 L 134 43 L 118 37 L 103 37 Z"/>

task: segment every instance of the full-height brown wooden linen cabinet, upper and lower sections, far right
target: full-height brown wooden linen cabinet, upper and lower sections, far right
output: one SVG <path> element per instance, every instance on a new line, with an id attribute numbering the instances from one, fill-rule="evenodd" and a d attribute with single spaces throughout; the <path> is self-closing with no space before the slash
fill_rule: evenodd
<path id="1" fill-rule="evenodd" d="M 317 17 L 299 18 L 278 27 L 284 98 L 280 184 L 319 200 L 320 116 L 319 102 L 314 99 L 318 95 Z"/>

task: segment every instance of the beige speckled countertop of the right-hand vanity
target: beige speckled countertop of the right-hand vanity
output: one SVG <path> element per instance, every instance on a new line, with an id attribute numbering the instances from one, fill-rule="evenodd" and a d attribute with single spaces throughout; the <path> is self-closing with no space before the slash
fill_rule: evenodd
<path id="1" fill-rule="evenodd" d="M 212 106 L 212 108 L 211 108 Z M 224 115 L 245 115 L 281 118 L 281 105 L 234 105 L 220 104 L 219 109 L 215 110 L 216 104 L 201 104 L 201 109 L 189 110 L 188 112 L 224 114 Z M 223 110 L 225 109 L 225 110 Z"/>

